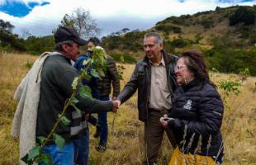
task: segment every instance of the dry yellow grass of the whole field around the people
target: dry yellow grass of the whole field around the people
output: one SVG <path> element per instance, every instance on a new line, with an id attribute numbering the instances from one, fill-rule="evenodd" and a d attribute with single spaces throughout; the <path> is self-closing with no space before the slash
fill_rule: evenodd
<path id="1" fill-rule="evenodd" d="M 12 118 L 17 103 L 12 100 L 13 93 L 28 68 L 24 66 L 26 60 L 34 61 L 37 57 L 26 54 L 7 54 L 0 56 L 0 164 L 17 164 L 18 140 L 12 139 L 10 134 Z M 134 65 L 125 64 L 124 80 L 121 87 L 129 81 Z M 235 78 L 236 75 L 211 73 L 214 82 L 220 79 Z M 256 93 L 254 83 L 256 78 L 248 78 L 240 87 L 239 96 L 230 95 L 227 98 L 222 132 L 225 140 L 224 164 L 256 164 Z M 220 93 L 223 93 L 220 91 Z M 90 139 L 89 164 L 141 164 L 144 158 L 143 130 L 144 125 L 138 120 L 136 109 L 137 96 L 121 106 L 116 114 L 115 125 L 112 127 L 114 115 L 108 115 L 109 138 L 107 152 L 97 153 L 95 146 L 98 139 Z M 112 130 L 113 128 L 113 130 Z M 94 128 L 90 127 L 91 133 Z M 168 164 L 172 156 L 170 144 L 164 137 L 159 164 Z"/>

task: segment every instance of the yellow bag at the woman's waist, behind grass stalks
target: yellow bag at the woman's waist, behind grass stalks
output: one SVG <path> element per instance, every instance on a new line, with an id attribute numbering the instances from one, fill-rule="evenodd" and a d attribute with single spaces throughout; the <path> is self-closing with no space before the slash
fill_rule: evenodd
<path id="1" fill-rule="evenodd" d="M 168 165 L 216 165 L 211 157 L 198 154 L 184 154 L 178 148 L 174 149 L 173 157 Z"/>

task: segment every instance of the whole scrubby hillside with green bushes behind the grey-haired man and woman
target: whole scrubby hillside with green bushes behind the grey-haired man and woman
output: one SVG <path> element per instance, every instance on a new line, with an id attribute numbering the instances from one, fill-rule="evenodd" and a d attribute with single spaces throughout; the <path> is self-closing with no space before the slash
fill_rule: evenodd
<path id="1" fill-rule="evenodd" d="M 193 15 L 170 16 L 146 31 L 123 29 L 102 38 L 109 54 L 126 54 L 136 59 L 145 56 L 146 32 L 159 32 L 164 50 L 180 54 L 184 50 L 201 50 L 211 70 L 241 73 L 249 70 L 256 76 L 256 6 L 216 7 L 215 11 Z"/>

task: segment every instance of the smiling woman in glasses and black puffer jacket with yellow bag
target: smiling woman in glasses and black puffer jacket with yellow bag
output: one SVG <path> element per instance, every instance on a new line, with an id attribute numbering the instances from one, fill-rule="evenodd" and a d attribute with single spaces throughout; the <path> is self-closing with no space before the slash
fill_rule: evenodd
<path id="1" fill-rule="evenodd" d="M 178 144 L 169 165 L 222 163 L 224 106 L 202 54 L 195 50 L 181 54 L 175 74 L 179 87 L 173 93 L 172 110 L 160 119 L 173 130 Z"/>

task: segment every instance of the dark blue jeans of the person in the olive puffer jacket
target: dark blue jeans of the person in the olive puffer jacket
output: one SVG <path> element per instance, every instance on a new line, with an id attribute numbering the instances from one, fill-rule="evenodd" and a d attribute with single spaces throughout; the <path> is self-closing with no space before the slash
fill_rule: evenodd
<path id="1" fill-rule="evenodd" d="M 109 97 L 100 97 L 101 101 L 109 101 Z M 99 145 L 107 145 L 107 112 L 98 113 L 98 125 L 101 126 L 100 143 Z"/>

